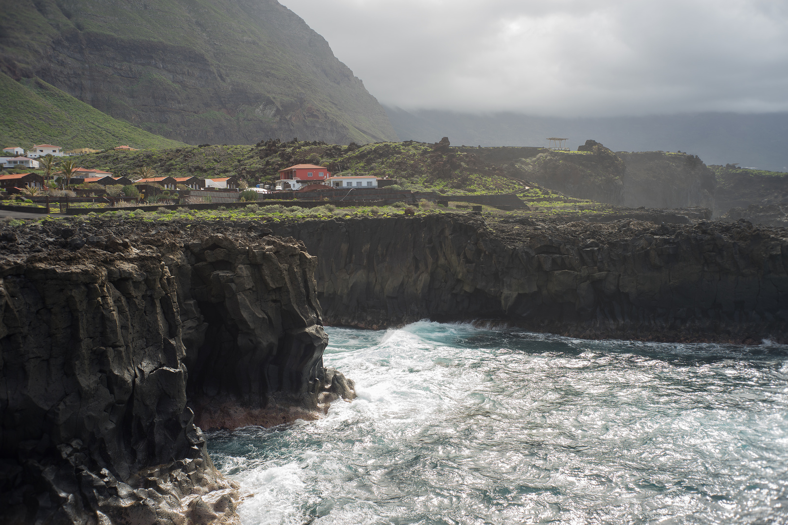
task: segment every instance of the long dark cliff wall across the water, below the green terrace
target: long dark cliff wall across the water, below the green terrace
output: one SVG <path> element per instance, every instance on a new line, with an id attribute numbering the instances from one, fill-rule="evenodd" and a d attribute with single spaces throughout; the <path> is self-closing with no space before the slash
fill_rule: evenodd
<path id="1" fill-rule="evenodd" d="M 472 215 L 273 228 L 318 254 L 329 324 L 499 319 L 588 338 L 788 341 L 782 229 Z"/>

